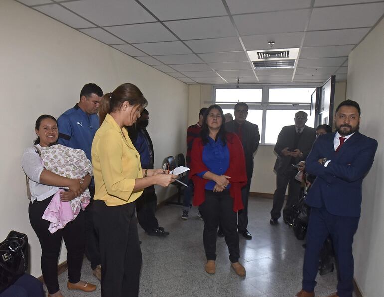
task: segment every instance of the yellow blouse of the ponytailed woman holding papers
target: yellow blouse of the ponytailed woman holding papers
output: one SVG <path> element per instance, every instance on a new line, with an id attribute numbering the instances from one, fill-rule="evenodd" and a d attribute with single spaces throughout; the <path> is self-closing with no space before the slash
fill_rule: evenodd
<path id="1" fill-rule="evenodd" d="M 95 200 L 108 206 L 135 201 L 143 193 L 133 191 L 135 179 L 143 177 L 140 155 L 126 129 L 107 114 L 92 142 L 92 165 L 95 178 Z"/>

